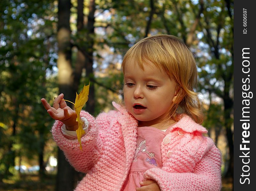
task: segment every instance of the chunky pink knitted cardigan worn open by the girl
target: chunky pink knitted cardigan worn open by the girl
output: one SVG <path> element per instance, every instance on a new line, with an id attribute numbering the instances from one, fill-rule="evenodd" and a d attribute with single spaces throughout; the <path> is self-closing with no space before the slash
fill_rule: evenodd
<path id="1" fill-rule="evenodd" d="M 136 149 L 138 123 L 126 109 L 114 102 L 113 105 L 117 111 L 101 113 L 96 120 L 81 112 L 90 123 L 90 131 L 81 138 L 82 151 L 77 140 L 62 135 L 60 121 L 52 127 L 53 138 L 67 160 L 77 171 L 87 173 L 75 191 L 119 191 L 127 178 Z M 178 133 L 180 129 L 183 135 Z M 162 169 L 147 170 L 144 179 L 157 181 L 162 191 L 220 190 L 221 153 L 211 138 L 202 136 L 206 132 L 183 115 L 167 130 L 170 142 L 161 143 Z"/>

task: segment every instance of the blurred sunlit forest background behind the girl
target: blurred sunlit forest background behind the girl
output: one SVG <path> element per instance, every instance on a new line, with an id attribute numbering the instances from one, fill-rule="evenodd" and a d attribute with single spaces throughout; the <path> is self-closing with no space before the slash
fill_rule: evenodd
<path id="1" fill-rule="evenodd" d="M 53 142 L 50 104 L 90 81 L 94 116 L 121 99 L 121 62 L 140 39 L 173 34 L 195 54 L 205 122 L 233 189 L 233 0 L 1 0 L 0 190 L 72 190 L 84 176 Z"/>

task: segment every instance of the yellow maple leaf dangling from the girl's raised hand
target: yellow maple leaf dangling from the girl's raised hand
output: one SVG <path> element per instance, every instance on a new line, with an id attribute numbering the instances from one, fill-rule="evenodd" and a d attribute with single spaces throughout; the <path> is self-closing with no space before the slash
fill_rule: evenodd
<path id="1" fill-rule="evenodd" d="M 83 134 L 85 134 L 82 126 L 83 126 L 83 121 L 81 120 L 80 117 L 80 112 L 84 106 L 84 104 L 88 101 L 88 95 L 89 95 L 89 85 L 83 87 L 82 91 L 78 95 L 76 93 L 76 98 L 75 98 L 75 112 L 76 112 L 76 121 L 78 122 L 78 129 L 76 130 L 76 135 L 77 135 L 77 140 L 80 144 L 80 149 L 82 150 L 82 144 L 81 144 L 81 137 Z"/>

